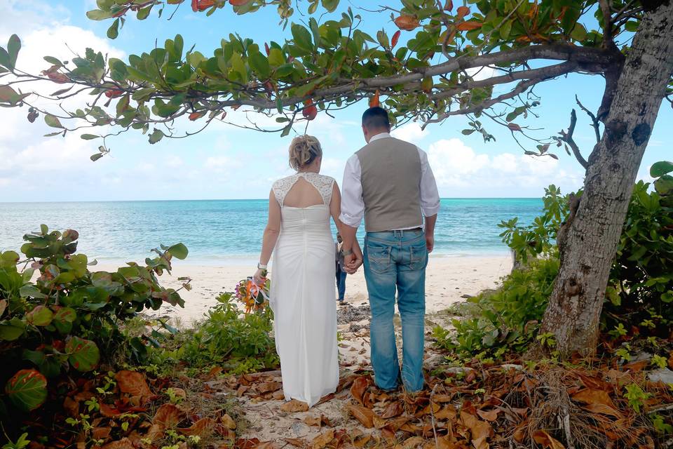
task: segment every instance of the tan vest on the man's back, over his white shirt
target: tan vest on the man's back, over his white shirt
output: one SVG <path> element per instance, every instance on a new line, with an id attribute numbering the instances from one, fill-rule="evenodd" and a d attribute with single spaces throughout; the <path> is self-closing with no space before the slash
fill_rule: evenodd
<path id="1" fill-rule="evenodd" d="M 366 231 L 421 226 L 421 157 L 416 145 L 382 138 L 355 154 L 362 167 Z"/>

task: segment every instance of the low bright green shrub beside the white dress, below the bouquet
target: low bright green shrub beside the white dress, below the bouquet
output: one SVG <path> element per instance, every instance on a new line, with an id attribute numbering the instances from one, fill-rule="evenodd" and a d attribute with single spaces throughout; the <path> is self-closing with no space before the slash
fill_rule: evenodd
<path id="1" fill-rule="evenodd" d="M 279 359 L 271 337 L 271 309 L 246 314 L 232 293 L 223 293 L 217 301 L 204 321 L 170 335 L 163 347 L 151 349 L 151 362 L 164 370 L 177 363 L 196 371 L 219 366 L 225 373 L 237 375 L 276 368 Z"/>

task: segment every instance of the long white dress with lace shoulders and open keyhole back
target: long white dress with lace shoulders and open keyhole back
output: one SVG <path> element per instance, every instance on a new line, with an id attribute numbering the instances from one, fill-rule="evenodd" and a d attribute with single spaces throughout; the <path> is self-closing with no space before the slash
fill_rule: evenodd
<path id="1" fill-rule="evenodd" d="M 296 208 L 283 201 L 303 177 L 322 196 L 322 204 Z M 339 384 L 337 302 L 334 292 L 334 241 L 329 202 L 334 179 L 297 173 L 273 184 L 281 209 L 274 248 L 269 304 L 280 356 L 285 399 L 313 406 Z"/>

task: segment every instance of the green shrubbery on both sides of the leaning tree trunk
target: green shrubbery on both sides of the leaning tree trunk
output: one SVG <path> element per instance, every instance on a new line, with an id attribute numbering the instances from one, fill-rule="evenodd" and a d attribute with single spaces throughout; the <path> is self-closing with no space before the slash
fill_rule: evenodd
<path id="1" fill-rule="evenodd" d="M 668 337 L 673 323 L 673 163 L 651 168 L 654 190 L 634 187 L 616 260 L 606 289 L 601 328 L 614 338 L 630 332 Z M 581 192 L 574 194 L 580 196 Z M 514 251 L 519 269 L 503 277 L 498 290 L 468 300 L 468 315 L 454 319 L 455 333 L 436 328 L 440 346 L 463 357 L 522 352 L 538 340 L 550 349 L 553 335 L 536 335 L 559 269 L 556 236 L 569 213 L 569 196 L 545 189 L 542 215 L 529 226 L 503 221 L 503 241 Z M 626 327 L 625 327 L 626 326 Z"/>

